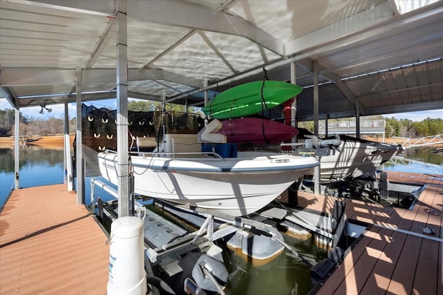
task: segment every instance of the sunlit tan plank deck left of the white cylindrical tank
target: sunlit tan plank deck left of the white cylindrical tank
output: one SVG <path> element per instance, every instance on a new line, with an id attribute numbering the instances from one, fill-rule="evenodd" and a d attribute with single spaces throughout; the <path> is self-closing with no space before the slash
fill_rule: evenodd
<path id="1" fill-rule="evenodd" d="M 0 213 L 0 294 L 106 294 L 107 236 L 66 185 L 19 189 Z"/>

